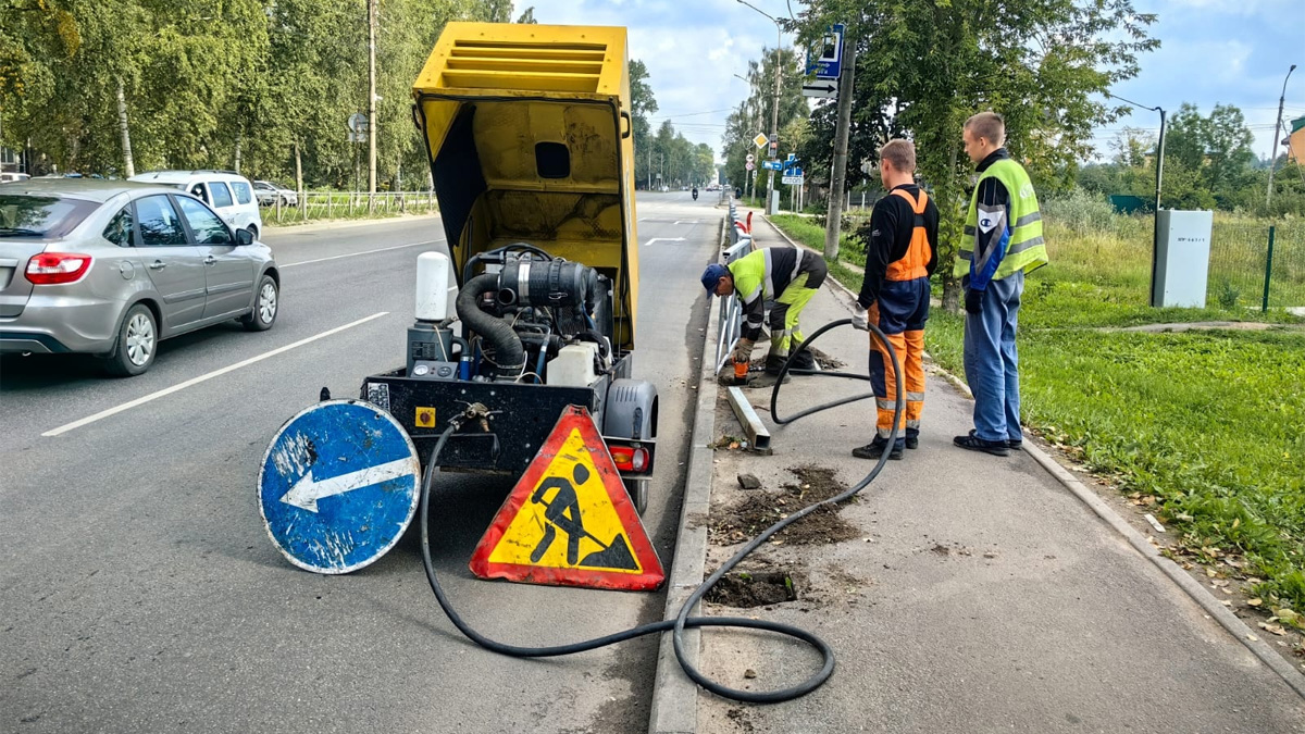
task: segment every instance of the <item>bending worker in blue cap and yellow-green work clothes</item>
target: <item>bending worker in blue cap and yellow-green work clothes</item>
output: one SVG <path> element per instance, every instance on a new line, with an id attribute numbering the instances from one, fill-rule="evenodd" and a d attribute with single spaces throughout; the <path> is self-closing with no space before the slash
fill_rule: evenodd
<path id="1" fill-rule="evenodd" d="M 743 303 L 743 336 L 733 351 L 735 374 L 746 370 L 752 360 L 752 347 L 761 336 L 766 321 L 766 300 L 774 299 L 770 310 L 770 354 L 766 355 L 766 374 L 748 383 L 749 388 L 774 387 L 779 370 L 788 360 L 788 351 L 803 342 L 799 317 L 820 286 L 829 276 L 825 259 L 814 252 L 791 247 L 762 247 L 728 266 L 711 264 L 702 273 L 702 285 L 709 294 L 739 296 Z M 816 359 L 803 351 L 793 359 L 795 370 L 814 370 Z M 744 372 L 745 374 L 745 372 Z"/>

